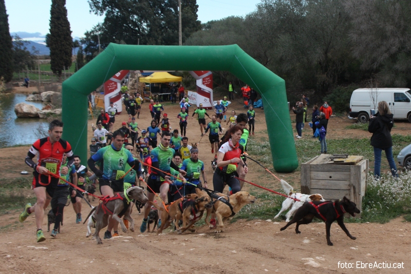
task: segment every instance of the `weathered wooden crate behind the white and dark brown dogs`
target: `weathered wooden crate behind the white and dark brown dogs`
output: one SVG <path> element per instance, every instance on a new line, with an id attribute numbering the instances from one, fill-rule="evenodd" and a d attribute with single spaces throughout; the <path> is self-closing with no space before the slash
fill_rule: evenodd
<path id="1" fill-rule="evenodd" d="M 348 159 L 361 157 L 361 160 L 351 161 L 351 165 L 330 165 L 331 159 L 327 155 L 316 156 L 301 165 L 301 193 L 319 193 L 326 200 L 342 199 L 346 196 L 361 210 L 362 197 L 367 187 L 368 160 L 363 160 L 361 156 L 349 156 Z M 357 216 L 360 217 L 360 214 Z"/>

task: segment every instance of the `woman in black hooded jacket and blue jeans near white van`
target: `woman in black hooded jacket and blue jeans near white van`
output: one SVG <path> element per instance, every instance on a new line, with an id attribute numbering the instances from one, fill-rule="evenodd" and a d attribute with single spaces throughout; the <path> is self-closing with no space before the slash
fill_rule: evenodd
<path id="1" fill-rule="evenodd" d="M 385 101 L 378 103 L 378 113 L 371 116 L 368 132 L 372 133 L 371 145 L 374 147 L 374 176 L 380 177 L 381 152 L 385 151 L 389 163 L 389 169 L 394 177 L 398 177 L 397 167 L 393 157 L 393 139 L 391 129 L 394 126 L 394 115 L 391 114 L 388 104 Z"/>

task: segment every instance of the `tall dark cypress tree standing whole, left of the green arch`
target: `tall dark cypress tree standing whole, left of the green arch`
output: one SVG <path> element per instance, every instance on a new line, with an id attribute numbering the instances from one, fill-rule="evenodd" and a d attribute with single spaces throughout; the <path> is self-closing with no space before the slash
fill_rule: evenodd
<path id="1" fill-rule="evenodd" d="M 61 77 L 65 67 L 71 66 L 71 38 L 70 23 L 67 19 L 66 0 L 52 0 L 50 11 L 50 67 L 54 74 Z"/>

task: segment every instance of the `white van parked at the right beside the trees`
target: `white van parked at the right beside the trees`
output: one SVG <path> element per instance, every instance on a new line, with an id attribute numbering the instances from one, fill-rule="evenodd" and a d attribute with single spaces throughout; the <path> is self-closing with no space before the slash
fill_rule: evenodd
<path id="1" fill-rule="evenodd" d="M 373 93 L 373 94 L 372 94 Z M 374 95 L 374 96 L 373 96 Z M 372 97 L 376 97 L 375 105 Z M 411 122 L 411 90 L 409 88 L 359 88 L 352 92 L 349 117 L 360 122 L 369 121 L 371 109 L 378 112 L 378 103 L 386 101 L 394 119 L 408 119 Z"/>

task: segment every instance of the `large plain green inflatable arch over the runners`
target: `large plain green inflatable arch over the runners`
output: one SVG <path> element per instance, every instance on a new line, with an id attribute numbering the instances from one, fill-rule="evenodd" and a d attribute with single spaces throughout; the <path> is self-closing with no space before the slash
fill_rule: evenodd
<path id="1" fill-rule="evenodd" d="M 277 172 L 298 167 L 285 81 L 237 45 L 139 46 L 109 44 L 96 58 L 63 82 L 63 138 L 83 163 L 87 155 L 87 96 L 118 71 L 226 70 L 248 83 L 263 98 L 268 136 Z"/>

